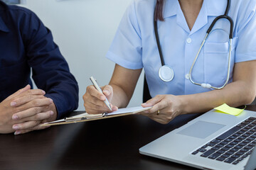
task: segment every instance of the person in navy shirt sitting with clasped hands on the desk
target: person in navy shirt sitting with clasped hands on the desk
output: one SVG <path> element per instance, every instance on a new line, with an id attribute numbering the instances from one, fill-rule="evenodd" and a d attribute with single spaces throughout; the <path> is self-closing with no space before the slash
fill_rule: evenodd
<path id="1" fill-rule="evenodd" d="M 40 130 L 78 108 L 78 83 L 35 13 L 0 1 L 0 51 L 0 133 Z"/>

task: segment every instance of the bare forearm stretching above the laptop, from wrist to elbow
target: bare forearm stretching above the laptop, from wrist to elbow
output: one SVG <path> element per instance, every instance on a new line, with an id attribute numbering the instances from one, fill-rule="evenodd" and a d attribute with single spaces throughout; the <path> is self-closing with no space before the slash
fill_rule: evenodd
<path id="1" fill-rule="evenodd" d="M 201 94 L 179 96 L 183 101 L 183 113 L 204 113 L 223 103 L 238 107 L 252 103 L 255 98 L 255 86 L 245 81 L 235 81 L 221 90 Z"/>

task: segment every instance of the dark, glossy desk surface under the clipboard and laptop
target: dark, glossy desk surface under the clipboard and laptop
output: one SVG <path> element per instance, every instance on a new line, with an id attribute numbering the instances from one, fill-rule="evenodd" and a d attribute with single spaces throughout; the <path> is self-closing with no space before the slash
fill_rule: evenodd
<path id="1" fill-rule="evenodd" d="M 256 111 L 256 106 L 247 110 Z M 182 115 L 161 125 L 129 115 L 0 135 L 0 169 L 192 169 L 146 157 L 139 148 L 197 116 Z"/>

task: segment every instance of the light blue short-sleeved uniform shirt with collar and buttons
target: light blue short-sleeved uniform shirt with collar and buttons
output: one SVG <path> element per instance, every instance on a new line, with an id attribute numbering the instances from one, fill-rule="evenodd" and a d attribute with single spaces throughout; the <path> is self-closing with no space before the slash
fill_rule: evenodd
<path id="1" fill-rule="evenodd" d="M 154 34 L 156 0 L 133 0 L 124 13 L 107 58 L 127 69 L 144 68 L 152 97 L 157 94 L 196 94 L 204 89 L 191 83 L 188 72 L 216 16 L 223 15 L 227 1 L 204 0 L 196 23 L 189 30 L 178 0 L 166 0 L 164 21 L 158 21 L 159 39 L 164 62 L 174 69 L 174 79 L 161 81 L 161 60 Z M 236 62 L 256 60 L 256 0 L 232 0 L 228 16 L 233 18 L 233 42 L 229 83 Z M 230 24 L 221 19 L 215 24 L 191 77 L 197 83 L 223 86 L 228 72 Z"/>

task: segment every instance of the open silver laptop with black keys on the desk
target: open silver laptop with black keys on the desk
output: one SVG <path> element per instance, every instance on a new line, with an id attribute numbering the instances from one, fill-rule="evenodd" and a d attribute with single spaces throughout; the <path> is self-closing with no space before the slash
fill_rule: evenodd
<path id="1" fill-rule="evenodd" d="M 198 169 L 256 169 L 256 112 L 208 111 L 139 149 Z"/>

